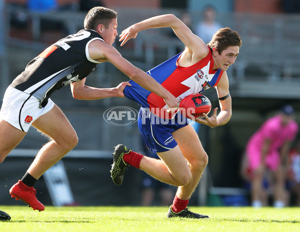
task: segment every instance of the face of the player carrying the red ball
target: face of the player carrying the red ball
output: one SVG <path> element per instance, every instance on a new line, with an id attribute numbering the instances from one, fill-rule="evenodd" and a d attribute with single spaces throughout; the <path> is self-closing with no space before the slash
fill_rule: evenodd
<path id="1" fill-rule="evenodd" d="M 239 53 L 238 46 L 228 46 L 222 50 L 221 54 L 218 51 L 214 51 L 214 65 L 213 68 L 219 68 L 222 71 L 226 71 L 228 67 L 234 63 L 236 56 Z"/>

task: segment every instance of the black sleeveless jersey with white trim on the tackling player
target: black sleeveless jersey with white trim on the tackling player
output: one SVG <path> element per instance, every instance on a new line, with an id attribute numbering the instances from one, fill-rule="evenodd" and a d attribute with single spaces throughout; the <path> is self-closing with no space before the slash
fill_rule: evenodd
<path id="1" fill-rule="evenodd" d="M 32 59 L 10 86 L 40 99 L 41 107 L 56 89 L 86 77 L 100 63 L 89 57 L 88 44 L 103 38 L 94 30 L 80 30 L 47 47 Z"/>

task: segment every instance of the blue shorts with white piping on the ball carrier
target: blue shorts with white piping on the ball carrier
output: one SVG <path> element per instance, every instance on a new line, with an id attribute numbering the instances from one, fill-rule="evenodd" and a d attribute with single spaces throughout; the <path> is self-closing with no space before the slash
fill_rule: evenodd
<path id="1" fill-rule="evenodd" d="M 147 147 L 151 151 L 164 152 L 177 145 L 172 132 L 188 125 L 188 120 L 180 112 L 171 119 L 163 119 L 140 107 L 137 123 Z"/>

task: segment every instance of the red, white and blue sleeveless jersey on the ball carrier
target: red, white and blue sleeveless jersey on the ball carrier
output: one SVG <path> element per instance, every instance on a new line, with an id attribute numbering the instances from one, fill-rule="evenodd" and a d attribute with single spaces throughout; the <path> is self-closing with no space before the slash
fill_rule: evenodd
<path id="1" fill-rule="evenodd" d="M 178 58 L 181 53 L 147 71 L 147 74 L 152 76 L 179 101 L 191 93 L 202 92 L 215 86 L 223 73 L 220 69 L 212 70 L 211 49 L 209 49 L 206 57 L 188 67 L 178 65 Z M 128 99 L 137 102 L 142 107 L 149 108 L 157 116 L 163 118 L 173 116 L 166 111 L 168 107 L 162 97 L 144 89 L 132 80 L 129 82 L 131 86 L 126 86 L 124 89 L 124 95 Z"/>

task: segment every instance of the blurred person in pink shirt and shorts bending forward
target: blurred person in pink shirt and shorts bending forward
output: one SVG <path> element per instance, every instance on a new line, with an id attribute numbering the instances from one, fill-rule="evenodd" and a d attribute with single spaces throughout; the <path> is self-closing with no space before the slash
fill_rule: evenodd
<path id="1" fill-rule="evenodd" d="M 250 137 L 246 145 L 246 158 L 252 206 L 262 206 L 262 181 L 267 170 L 270 171 L 274 183 L 273 205 L 284 206 L 287 154 L 297 131 L 294 109 L 291 105 L 284 105 L 279 113 L 267 119 Z"/>

